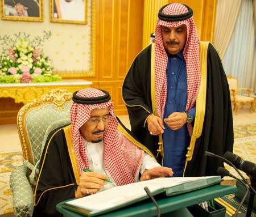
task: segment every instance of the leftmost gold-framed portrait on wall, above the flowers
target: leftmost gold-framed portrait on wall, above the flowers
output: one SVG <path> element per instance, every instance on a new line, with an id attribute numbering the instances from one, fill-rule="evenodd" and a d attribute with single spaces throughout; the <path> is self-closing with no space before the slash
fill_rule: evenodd
<path id="1" fill-rule="evenodd" d="M 1 19 L 43 22 L 43 0 L 1 0 Z"/>

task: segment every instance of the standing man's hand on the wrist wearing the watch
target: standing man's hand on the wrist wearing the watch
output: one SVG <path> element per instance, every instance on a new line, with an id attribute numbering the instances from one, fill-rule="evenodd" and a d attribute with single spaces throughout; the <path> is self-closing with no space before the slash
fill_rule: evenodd
<path id="1" fill-rule="evenodd" d="M 185 112 L 174 112 L 168 118 L 164 119 L 172 130 L 179 130 L 187 122 L 187 114 Z"/>

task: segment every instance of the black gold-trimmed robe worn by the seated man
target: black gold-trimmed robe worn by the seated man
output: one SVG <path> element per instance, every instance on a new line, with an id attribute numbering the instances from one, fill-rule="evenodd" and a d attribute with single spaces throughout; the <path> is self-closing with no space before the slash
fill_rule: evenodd
<path id="1" fill-rule="evenodd" d="M 118 119 L 118 130 L 138 147 L 142 144 Z M 69 127 L 69 125 L 66 125 Z M 40 172 L 35 192 L 35 204 L 33 216 L 63 216 L 56 210 L 57 203 L 75 198 L 78 187 L 79 170 L 72 158 L 76 159 L 75 152 L 70 154 L 68 140 L 72 139 L 71 131 L 65 134 L 64 126 L 53 130 L 47 138 L 44 151 L 40 159 Z M 72 143 L 72 142 L 71 142 Z M 152 156 L 148 150 L 144 150 Z M 153 156 L 154 157 L 154 156 Z M 42 168 L 43 165 L 43 168 Z"/>

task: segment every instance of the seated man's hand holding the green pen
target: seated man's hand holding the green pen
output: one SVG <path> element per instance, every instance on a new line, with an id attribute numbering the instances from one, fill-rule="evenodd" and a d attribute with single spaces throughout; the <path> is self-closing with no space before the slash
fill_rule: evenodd
<path id="1" fill-rule="evenodd" d="M 75 197 L 84 197 L 86 195 L 97 193 L 100 189 L 104 188 L 103 185 L 108 184 L 104 179 L 108 176 L 96 172 L 83 172 L 79 178 L 79 186 L 76 190 Z M 87 191 L 88 190 L 88 191 Z"/>

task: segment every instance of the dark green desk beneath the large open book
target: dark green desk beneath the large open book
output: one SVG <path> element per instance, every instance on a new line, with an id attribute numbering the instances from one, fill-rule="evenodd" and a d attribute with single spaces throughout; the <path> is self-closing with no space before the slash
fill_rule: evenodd
<path id="1" fill-rule="evenodd" d="M 192 206 L 197 203 L 208 201 L 209 199 L 222 197 L 224 195 L 233 194 L 236 192 L 237 188 L 236 186 L 225 186 L 225 185 L 214 185 L 210 186 L 208 188 L 195 190 L 193 192 L 185 193 L 185 194 L 179 194 L 173 197 L 166 197 L 160 195 L 155 196 L 156 202 L 158 202 L 158 205 L 161 210 L 161 216 L 182 216 L 185 217 L 187 215 L 180 215 L 182 211 L 184 211 L 184 208 L 187 206 Z M 65 202 L 65 201 L 64 201 Z M 61 202 L 61 203 L 64 203 Z M 83 215 L 77 214 L 75 212 L 69 211 L 67 209 L 64 209 L 60 206 L 60 204 L 57 204 L 56 208 L 57 211 L 59 211 L 61 214 L 64 215 L 64 217 L 82 217 Z M 99 205 L 100 206 L 100 205 Z M 156 216 L 157 211 L 156 207 L 153 202 L 151 202 L 149 199 L 146 201 L 142 201 L 139 203 L 135 203 L 134 205 L 123 207 L 122 209 L 119 209 L 117 211 L 108 212 L 106 214 L 98 215 L 105 216 L 105 217 L 150 217 L 150 216 Z"/>

